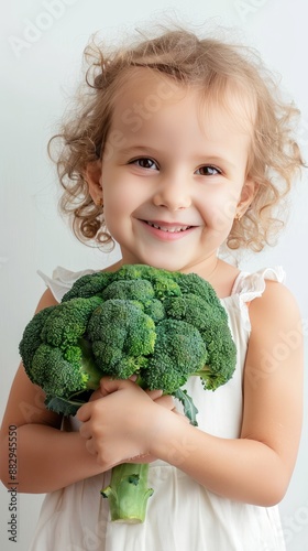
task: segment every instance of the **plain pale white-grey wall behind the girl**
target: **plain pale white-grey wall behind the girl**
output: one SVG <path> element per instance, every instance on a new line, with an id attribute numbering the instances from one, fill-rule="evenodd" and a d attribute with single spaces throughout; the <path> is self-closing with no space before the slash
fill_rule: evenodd
<path id="1" fill-rule="evenodd" d="M 136 26 L 144 28 L 148 21 L 165 21 L 166 17 L 198 28 L 210 22 L 235 29 L 235 35 L 255 46 L 267 65 L 282 75 L 283 86 L 299 106 L 299 139 L 308 159 L 307 15 L 305 0 L 2 0 L 1 417 L 19 364 L 22 331 L 44 291 L 36 270 L 51 274 L 57 264 L 79 270 L 111 261 L 110 256 L 78 244 L 62 222 L 56 207 L 55 171 L 46 154 L 47 140 L 78 80 L 81 52 L 89 36 L 100 31 L 102 36 L 117 39 Z M 284 266 L 287 284 L 300 305 L 307 346 L 307 173 L 297 184 L 293 202 L 289 225 L 278 246 L 245 259 L 243 267 Z M 308 543 L 307 389 L 305 415 L 297 466 L 280 505 L 288 551 L 304 551 Z M 7 531 L 10 496 L 4 487 L 0 488 L 2 551 L 26 551 L 41 501 L 42 496 L 19 497 L 15 544 L 9 541 Z"/>

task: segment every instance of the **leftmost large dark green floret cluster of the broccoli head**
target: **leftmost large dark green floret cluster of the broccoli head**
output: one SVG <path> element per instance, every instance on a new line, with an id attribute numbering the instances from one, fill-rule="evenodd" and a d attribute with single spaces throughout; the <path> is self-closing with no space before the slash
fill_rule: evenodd
<path id="1" fill-rule="evenodd" d="M 20 343 L 20 354 L 26 375 L 52 398 L 69 400 L 76 392 L 95 390 L 102 372 L 95 364 L 86 328 L 90 315 L 102 299 L 72 299 L 69 302 L 42 310 L 28 324 Z M 72 408 L 70 414 L 77 409 Z"/>

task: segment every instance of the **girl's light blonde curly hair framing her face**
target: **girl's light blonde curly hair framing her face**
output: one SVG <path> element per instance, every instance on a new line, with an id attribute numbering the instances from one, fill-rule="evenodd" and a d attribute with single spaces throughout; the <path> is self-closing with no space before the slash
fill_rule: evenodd
<path id="1" fill-rule="evenodd" d="M 221 39 L 198 37 L 184 29 L 163 30 L 117 48 L 90 43 L 85 50 L 86 79 L 76 107 L 50 141 L 64 188 L 61 212 L 68 215 L 79 240 L 113 246 L 105 224 L 103 206 L 96 205 L 84 177 L 87 165 L 101 158 L 109 136 L 113 106 L 134 67 L 148 67 L 177 84 L 201 87 L 207 99 L 223 101 L 230 84 L 254 105 L 254 125 L 248 177 L 256 183 L 249 209 L 234 219 L 227 240 L 230 249 L 260 251 L 284 226 L 284 204 L 296 173 L 304 165 L 294 139 L 299 111 L 282 99 L 273 75 L 251 48 Z M 280 208 L 282 210 L 282 208 Z"/>

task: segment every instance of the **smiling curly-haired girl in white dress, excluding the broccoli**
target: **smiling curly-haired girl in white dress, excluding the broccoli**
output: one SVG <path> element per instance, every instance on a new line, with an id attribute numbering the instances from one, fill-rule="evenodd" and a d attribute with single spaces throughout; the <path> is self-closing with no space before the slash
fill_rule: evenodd
<path id="1" fill-rule="evenodd" d="M 189 380 L 198 428 L 160 390 L 109 378 L 63 422 L 21 366 L 1 464 L 6 483 L 15 424 L 19 489 L 47 493 L 31 551 L 283 551 L 276 504 L 300 436 L 300 316 L 280 268 L 241 272 L 219 252 L 260 251 L 276 234 L 277 206 L 302 164 L 297 110 L 251 52 L 184 30 L 99 50 L 87 85 L 56 137 L 62 206 L 76 235 L 120 245 L 122 259 L 107 270 L 145 263 L 209 281 L 238 363 L 215 392 Z M 44 277 L 37 310 L 80 276 Z M 110 522 L 99 494 L 111 467 L 128 461 L 150 463 L 155 491 L 142 525 Z"/>

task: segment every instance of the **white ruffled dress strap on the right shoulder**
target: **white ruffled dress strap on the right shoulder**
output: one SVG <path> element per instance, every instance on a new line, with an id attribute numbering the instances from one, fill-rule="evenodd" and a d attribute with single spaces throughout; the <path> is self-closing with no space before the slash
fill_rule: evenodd
<path id="1" fill-rule="evenodd" d="M 263 268 L 254 273 L 241 272 L 234 282 L 231 294 L 239 294 L 243 302 L 251 302 L 253 299 L 262 296 L 265 291 L 266 280 L 284 283 L 284 269 L 276 266 L 274 268 Z"/>

